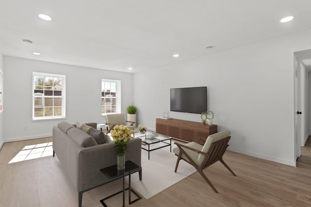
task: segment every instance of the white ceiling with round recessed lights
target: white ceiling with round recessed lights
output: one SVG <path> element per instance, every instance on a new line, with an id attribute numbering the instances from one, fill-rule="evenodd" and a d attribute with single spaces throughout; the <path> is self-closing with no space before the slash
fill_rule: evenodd
<path id="1" fill-rule="evenodd" d="M 0 0 L 0 53 L 135 73 L 311 29 L 310 8 L 311 0 Z M 285 16 L 295 18 L 280 23 Z"/>

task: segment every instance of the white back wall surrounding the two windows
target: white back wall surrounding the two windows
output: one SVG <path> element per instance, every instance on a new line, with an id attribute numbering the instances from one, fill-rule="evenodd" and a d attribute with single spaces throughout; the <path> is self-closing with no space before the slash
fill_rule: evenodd
<path id="1" fill-rule="evenodd" d="M 133 74 L 3 56 L 5 142 L 52 135 L 63 120 L 32 120 L 32 73 L 66 75 L 66 119 L 69 123 L 104 123 L 102 79 L 121 80 L 121 112 L 133 104 Z M 27 130 L 24 130 L 27 127 Z"/>

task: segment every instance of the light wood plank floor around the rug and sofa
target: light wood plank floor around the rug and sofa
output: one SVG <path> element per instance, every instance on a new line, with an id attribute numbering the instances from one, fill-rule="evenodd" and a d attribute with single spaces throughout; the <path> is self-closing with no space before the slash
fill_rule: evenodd
<path id="1" fill-rule="evenodd" d="M 52 138 L 5 143 L 0 150 L 0 207 L 77 207 L 78 193 L 55 156 L 8 162 L 25 146 L 51 142 Z M 132 207 L 310 207 L 311 142 L 302 147 L 297 167 L 227 151 L 224 160 L 205 169 L 219 193 L 198 173 Z M 134 175 L 133 175 L 134 176 Z M 100 200 L 119 191 L 121 180 L 87 191 L 83 207 L 102 207 Z M 121 195 L 107 200 L 121 206 Z M 126 206 L 129 206 L 128 204 Z"/>

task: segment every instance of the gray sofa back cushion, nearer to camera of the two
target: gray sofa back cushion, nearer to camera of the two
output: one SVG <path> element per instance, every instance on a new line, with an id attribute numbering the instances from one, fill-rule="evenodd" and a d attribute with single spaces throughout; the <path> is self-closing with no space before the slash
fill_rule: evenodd
<path id="1" fill-rule="evenodd" d="M 67 131 L 67 135 L 73 139 L 77 144 L 83 147 L 98 145 L 93 137 L 86 134 L 86 132 L 73 127 Z"/>

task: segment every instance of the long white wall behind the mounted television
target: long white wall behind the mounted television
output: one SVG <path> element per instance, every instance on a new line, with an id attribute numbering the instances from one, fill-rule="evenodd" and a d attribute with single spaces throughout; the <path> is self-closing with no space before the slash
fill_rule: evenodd
<path id="1" fill-rule="evenodd" d="M 155 118 L 170 109 L 170 88 L 207 86 L 214 124 L 232 132 L 229 150 L 295 166 L 293 60 L 295 51 L 311 48 L 310 36 L 299 32 L 135 74 L 138 124 L 155 129 Z M 200 122 L 200 114 L 170 116 Z"/>

